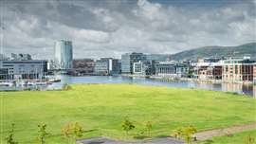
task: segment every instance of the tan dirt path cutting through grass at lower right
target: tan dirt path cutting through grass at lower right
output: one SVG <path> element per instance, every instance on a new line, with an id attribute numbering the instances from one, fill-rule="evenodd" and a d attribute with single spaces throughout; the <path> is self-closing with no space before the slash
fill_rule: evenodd
<path id="1" fill-rule="evenodd" d="M 232 135 L 235 133 L 244 132 L 248 130 L 255 130 L 255 129 L 256 129 L 256 122 L 252 124 L 247 124 L 247 125 L 232 126 L 224 129 L 216 129 L 216 130 L 199 132 L 195 134 L 195 136 L 197 140 L 201 141 L 201 140 L 210 139 L 213 136 Z"/>

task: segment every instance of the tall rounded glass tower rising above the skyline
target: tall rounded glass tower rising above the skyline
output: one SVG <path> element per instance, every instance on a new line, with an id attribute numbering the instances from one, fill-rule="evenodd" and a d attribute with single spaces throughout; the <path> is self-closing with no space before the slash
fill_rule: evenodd
<path id="1" fill-rule="evenodd" d="M 55 42 L 55 68 L 60 70 L 72 69 L 73 46 L 71 41 L 60 40 Z"/>

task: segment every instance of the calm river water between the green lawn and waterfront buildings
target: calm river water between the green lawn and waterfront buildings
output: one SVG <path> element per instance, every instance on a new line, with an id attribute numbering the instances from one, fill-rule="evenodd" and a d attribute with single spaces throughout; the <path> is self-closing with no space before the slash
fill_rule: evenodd
<path id="1" fill-rule="evenodd" d="M 59 89 L 62 88 L 64 83 L 136 83 L 136 84 L 147 84 L 147 85 L 164 85 L 169 87 L 182 87 L 182 88 L 199 88 L 199 89 L 210 89 L 214 91 L 227 91 L 235 92 L 239 94 L 246 94 L 249 96 L 256 97 L 256 86 L 244 85 L 241 83 L 206 83 L 206 82 L 195 82 L 195 81 L 160 81 L 150 80 L 144 78 L 127 78 L 127 77 L 107 77 L 107 76 L 84 76 L 84 77 L 72 77 L 72 76 L 57 76 L 61 79 L 61 82 L 56 82 L 47 86 L 40 86 L 38 88 L 43 89 Z M 34 88 L 34 87 L 31 87 Z M 0 87 L 0 90 L 7 89 L 22 89 L 17 87 L 4 88 Z"/>

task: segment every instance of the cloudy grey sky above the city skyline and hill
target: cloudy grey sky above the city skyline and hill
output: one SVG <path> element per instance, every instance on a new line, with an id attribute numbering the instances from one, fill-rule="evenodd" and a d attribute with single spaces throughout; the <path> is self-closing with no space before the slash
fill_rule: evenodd
<path id="1" fill-rule="evenodd" d="M 75 58 L 176 53 L 255 42 L 255 0 L 0 0 L 1 51 L 53 58 L 59 39 Z"/>

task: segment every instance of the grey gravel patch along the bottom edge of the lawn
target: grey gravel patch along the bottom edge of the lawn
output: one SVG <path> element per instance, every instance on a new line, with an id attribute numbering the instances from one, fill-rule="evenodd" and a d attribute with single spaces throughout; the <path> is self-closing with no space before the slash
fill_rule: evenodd
<path id="1" fill-rule="evenodd" d="M 140 140 L 140 141 L 117 141 L 108 139 L 106 137 L 95 137 L 89 139 L 82 139 L 77 141 L 79 144 L 185 144 L 181 140 L 171 137 L 155 138 L 153 140 Z"/>

